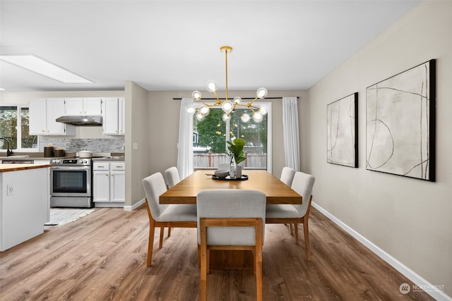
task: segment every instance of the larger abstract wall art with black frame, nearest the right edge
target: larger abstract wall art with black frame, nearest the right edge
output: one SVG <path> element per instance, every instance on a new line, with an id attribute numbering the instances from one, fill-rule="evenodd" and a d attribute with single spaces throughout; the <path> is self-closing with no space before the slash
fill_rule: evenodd
<path id="1" fill-rule="evenodd" d="M 367 87 L 368 170 L 435 180 L 435 63 Z"/>

